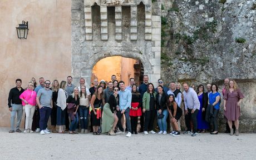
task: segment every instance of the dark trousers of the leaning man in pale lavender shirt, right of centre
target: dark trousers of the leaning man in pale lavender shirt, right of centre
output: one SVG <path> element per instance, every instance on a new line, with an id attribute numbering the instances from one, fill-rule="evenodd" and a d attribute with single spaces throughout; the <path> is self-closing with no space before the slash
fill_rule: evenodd
<path id="1" fill-rule="evenodd" d="M 192 109 L 188 108 L 188 114 L 185 115 L 186 127 L 188 131 L 191 131 L 191 124 L 190 121 L 192 120 L 193 123 L 193 132 L 196 133 L 198 131 L 198 121 L 196 116 L 198 116 L 198 109 L 195 109 L 194 113 L 191 113 Z"/>

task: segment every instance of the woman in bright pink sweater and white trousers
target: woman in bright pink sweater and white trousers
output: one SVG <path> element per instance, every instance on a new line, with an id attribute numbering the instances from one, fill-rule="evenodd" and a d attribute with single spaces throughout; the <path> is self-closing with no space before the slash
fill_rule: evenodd
<path id="1" fill-rule="evenodd" d="M 26 122 L 25 122 L 25 130 L 24 133 L 32 133 L 32 121 L 33 115 L 36 109 L 36 92 L 33 91 L 34 84 L 32 82 L 28 82 L 28 88 L 24 91 L 19 98 L 22 100 L 22 106 L 24 106 L 26 113 Z"/>

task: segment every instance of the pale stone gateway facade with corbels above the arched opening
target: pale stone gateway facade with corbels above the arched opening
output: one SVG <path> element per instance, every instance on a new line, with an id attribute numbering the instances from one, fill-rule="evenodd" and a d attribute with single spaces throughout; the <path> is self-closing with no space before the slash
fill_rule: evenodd
<path id="1" fill-rule="evenodd" d="M 156 84 L 161 69 L 160 9 L 161 3 L 152 7 L 151 0 L 72 0 L 75 82 L 83 77 L 89 86 L 92 68 L 100 59 L 122 56 L 139 59 L 144 74 Z"/>

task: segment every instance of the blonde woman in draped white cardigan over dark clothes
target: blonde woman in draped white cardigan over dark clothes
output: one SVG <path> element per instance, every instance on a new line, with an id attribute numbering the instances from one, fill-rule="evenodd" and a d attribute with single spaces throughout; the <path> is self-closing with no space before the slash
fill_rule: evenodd
<path id="1" fill-rule="evenodd" d="M 61 81 L 60 89 L 58 89 L 57 97 L 57 116 L 56 116 L 56 125 L 59 126 L 58 133 L 65 133 L 63 126 L 65 125 L 66 112 L 64 109 L 67 107 L 66 99 L 68 97 L 66 88 L 66 81 Z"/>

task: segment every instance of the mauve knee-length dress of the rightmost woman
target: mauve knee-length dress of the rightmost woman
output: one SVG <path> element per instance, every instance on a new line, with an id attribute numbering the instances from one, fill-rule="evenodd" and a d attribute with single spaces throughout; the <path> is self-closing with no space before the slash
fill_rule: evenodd
<path id="1" fill-rule="evenodd" d="M 233 92 L 225 92 L 224 99 L 227 101 L 227 110 L 224 111 L 224 115 L 229 121 L 238 120 L 240 117 L 240 107 L 237 106 L 237 102 L 242 98 L 244 98 L 244 95 L 241 93 L 240 89 L 237 89 Z"/>

